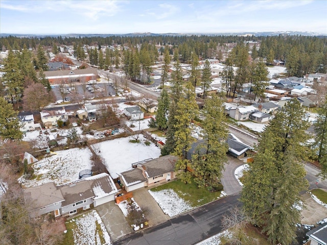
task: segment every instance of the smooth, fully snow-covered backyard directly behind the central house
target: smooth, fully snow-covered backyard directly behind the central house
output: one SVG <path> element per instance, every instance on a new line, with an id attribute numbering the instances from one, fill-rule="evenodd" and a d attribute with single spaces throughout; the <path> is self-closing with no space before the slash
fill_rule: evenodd
<path id="1" fill-rule="evenodd" d="M 117 178 L 117 173 L 122 173 L 132 168 L 132 163 L 149 158 L 158 158 L 160 149 L 154 143 L 146 145 L 145 138 L 139 135 L 139 143 L 131 143 L 132 137 L 107 140 L 94 144 L 95 149 L 100 150 L 100 155 L 105 159 L 106 167 L 111 177 Z"/>

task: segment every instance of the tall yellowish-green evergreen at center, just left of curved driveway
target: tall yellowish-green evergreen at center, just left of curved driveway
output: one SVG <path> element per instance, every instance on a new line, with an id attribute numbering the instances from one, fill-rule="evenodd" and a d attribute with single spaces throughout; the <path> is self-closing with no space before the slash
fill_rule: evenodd
<path id="1" fill-rule="evenodd" d="M 192 169 L 199 187 L 214 189 L 220 182 L 221 171 L 227 162 L 227 129 L 222 101 L 213 95 L 203 107 L 202 128 L 205 143 L 200 144 L 192 156 Z"/>

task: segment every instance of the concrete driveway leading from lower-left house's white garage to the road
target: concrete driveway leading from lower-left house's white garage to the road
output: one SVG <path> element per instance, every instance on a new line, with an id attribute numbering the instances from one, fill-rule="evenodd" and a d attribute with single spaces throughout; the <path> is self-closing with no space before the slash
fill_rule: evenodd
<path id="1" fill-rule="evenodd" d="M 106 226 L 111 241 L 133 232 L 133 229 L 126 221 L 122 210 L 115 204 L 115 202 L 112 201 L 102 204 L 95 209 L 98 211 L 102 222 Z"/>

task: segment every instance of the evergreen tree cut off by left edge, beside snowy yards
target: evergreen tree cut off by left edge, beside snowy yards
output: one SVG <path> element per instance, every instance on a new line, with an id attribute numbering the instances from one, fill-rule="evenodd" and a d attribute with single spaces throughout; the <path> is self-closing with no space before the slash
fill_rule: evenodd
<path id="1" fill-rule="evenodd" d="M 19 130 L 18 112 L 3 97 L 0 97 L 0 115 L 0 136 L 3 139 L 21 139 L 23 133 Z"/>

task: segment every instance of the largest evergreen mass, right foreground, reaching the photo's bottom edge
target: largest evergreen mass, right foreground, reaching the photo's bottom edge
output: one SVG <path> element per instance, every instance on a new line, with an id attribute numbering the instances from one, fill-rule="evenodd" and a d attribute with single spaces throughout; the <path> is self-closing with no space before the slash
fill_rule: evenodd
<path id="1" fill-rule="evenodd" d="M 309 125 L 303 116 L 297 99 L 277 112 L 244 175 L 244 209 L 272 243 L 290 244 L 300 222 L 295 205 L 303 206 L 299 192 L 308 187 L 301 161 L 307 158 Z"/>

